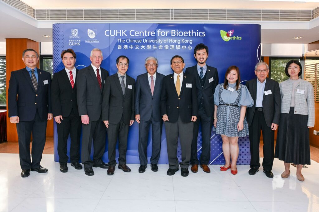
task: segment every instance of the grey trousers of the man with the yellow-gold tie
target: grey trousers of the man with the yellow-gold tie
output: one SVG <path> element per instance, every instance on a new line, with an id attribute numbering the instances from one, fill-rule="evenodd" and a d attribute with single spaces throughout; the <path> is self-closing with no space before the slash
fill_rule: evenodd
<path id="1" fill-rule="evenodd" d="M 169 118 L 169 117 L 168 117 Z M 188 168 L 190 161 L 190 149 L 193 138 L 194 123 L 184 123 L 181 117 L 174 123 L 165 121 L 166 141 L 167 141 L 167 156 L 169 168 L 178 168 L 177 145 L 178 135 L 182 148 L 182 161 L 179 163 L 181 168 Z"/>

